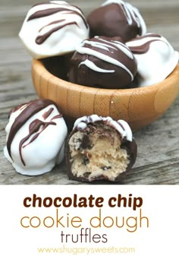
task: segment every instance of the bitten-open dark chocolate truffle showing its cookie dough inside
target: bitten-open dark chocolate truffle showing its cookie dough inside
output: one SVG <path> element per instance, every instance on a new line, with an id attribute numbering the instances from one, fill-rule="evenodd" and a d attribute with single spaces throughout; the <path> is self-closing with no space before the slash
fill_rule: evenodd
<path id="1" fill-rule="evenodd" d="M 137 157 L 137 144 L 127 122 L 98 115 L 77 119 L 68 138 L 69 179 L 118 182 Z"/>

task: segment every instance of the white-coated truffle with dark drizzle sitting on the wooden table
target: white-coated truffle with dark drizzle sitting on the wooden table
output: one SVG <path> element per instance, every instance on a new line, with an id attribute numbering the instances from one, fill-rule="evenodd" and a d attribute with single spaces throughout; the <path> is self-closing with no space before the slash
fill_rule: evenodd
<path id="1" fill-rule="evenodd" d="M 17 172 L 39 175 L 64 158 L 68 129 L 52 100 L 33 100 L 11 110 L 5 157 Z"/>

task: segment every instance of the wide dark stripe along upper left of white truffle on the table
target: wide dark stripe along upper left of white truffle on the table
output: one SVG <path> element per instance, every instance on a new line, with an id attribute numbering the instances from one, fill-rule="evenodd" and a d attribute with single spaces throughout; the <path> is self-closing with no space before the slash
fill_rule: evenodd
<path id="1" fill-rule="evenodd" d="M 27 120 L 30 119 L 33 115 L 35 115 L 40 110 L 45 109 L 46 106 L 49 106 L 51 104 L 54 105 L 52 100 L 32 100 L 30 101 L 29 105 L 20 113 L 20 115 L 17 116 L 17 118 L 14 120 L 13 125 L 11 126 L 11 131 L 8 135 L 7 150 L 10 157 L 11 143 L 14 140 L 17 131 L 19 131 L 24 123 L 27 122 Z"/>

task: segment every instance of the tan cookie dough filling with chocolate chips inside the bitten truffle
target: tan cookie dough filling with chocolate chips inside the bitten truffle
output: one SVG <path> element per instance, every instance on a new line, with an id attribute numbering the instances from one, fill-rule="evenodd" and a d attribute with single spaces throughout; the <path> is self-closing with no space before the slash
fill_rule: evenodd
<path id="1" fill-rule="evenodd" d="M 130 163 L 115 128 L 95 122 L 75 132 L 69 141 L 71 172 L 89 182 L 99 176 L 114 181 Z"/>

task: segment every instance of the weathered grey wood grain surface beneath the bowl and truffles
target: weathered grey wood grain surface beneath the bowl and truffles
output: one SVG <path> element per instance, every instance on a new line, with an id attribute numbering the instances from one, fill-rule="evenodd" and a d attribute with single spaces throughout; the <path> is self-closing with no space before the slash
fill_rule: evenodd
<path id="1" fill-rule="evenodd" d="M 36 99 L 31 80 L 31 57 L 18 39 L 24 17 L 35 0 L 1 0 L 0 8 L 0 184 L 79 184 L 69 181 L 65 163 L 36 177 L 14 171 L 3 155 L 8 112 L 20 103 Z M 42 2 L 42 1 L 41 1 Z M 68 1 L 85 14 L 103 1 Z M 148 32 L 160 33 L 179 51 L 179 2 L 129 1 L 140 9 Z M 179 184 L 179 97 L 162 117 L 134 133 L 137 162 L 121 184 Z M 100 183 L 101 184 L 101 183 Z"/>

